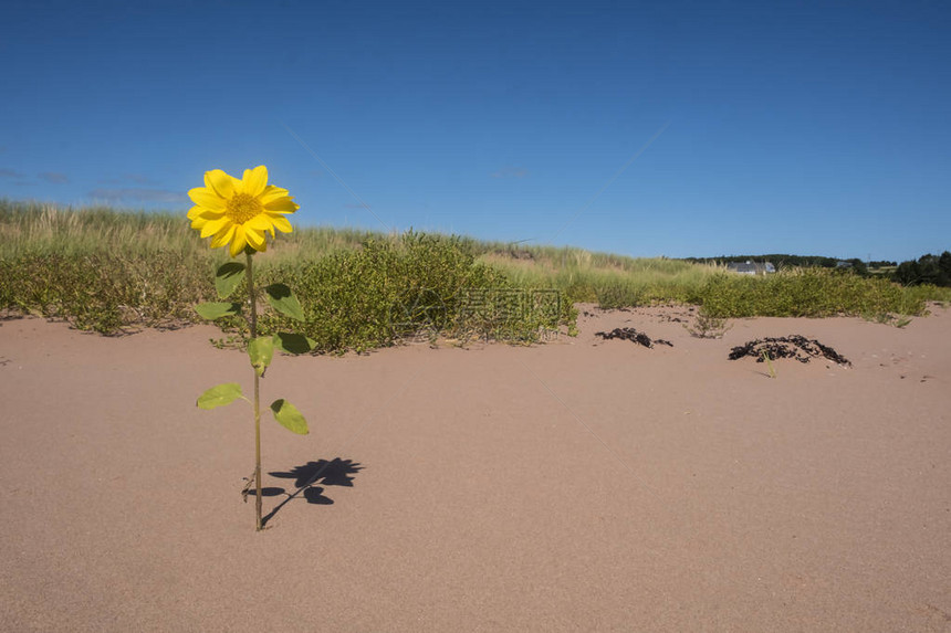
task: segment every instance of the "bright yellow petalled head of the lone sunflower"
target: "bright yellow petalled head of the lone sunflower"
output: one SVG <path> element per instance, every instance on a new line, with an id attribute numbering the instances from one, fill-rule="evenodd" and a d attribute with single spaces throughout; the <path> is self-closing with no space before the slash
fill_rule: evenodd
<path id="1" fill-rule="evenodd" d="M 267 251 L 265 233 L 274 236 L 274 229 L 283 233 L 293 231 L 284 215 L 301 208 L 288 196 L 286 189 L 268 184 L 268 168 L 263 165 L 245 169 L 239 180 L 220 169 L 205 172 L 205 187 L 188 192 L 195 207 L 188 212 L 191 228 L 211 238 L 211 247 L 231 244 L 231 256 L 237 257 L 251 246 Z"/>

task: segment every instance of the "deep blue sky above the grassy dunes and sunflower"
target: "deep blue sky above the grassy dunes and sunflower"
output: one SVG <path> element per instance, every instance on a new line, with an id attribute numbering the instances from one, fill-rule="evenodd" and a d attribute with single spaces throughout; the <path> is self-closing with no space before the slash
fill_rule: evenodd
<path id="1" fill-rule="evenodd" d="M 263 163 L 302 225 L 951 249 L 948 3 L 272 4 L 6 2 L 0 197 L 185 213 Z"/>

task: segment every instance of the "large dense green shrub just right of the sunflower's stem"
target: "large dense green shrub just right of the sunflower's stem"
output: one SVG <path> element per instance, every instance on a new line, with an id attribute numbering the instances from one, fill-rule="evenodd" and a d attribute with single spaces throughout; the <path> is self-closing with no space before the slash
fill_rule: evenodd
<path id="1" fill-rule="evenodd" d="M 484 308 L 516 288 L 501 272 L 477 263 L 466 243 L 418 233 L 369 240 L 359 250 L 269 274 L 294 289 L 305 316 L 299 331 L 316 340 L 321 351 L 364 350 L 420 333 L 527 340 L 567 315 L 473 309 L 477 298 Z M 285 318 L 269 313 L 259 321 L 261 331 L 288 327 Z"/>

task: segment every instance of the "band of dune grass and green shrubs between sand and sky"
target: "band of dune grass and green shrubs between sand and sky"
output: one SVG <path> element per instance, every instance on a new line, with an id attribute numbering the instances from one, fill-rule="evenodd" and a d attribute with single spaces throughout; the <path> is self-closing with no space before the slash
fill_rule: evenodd
<path id="1" fill-rule="evenodd" d="M 191 308 L 215 298 L 212 274 L 226 261 L 184 212 L 0 200 L 0 309 L 103 334 L 195 323 Z M 322 351 L 390 345 L 420 331 L 531 341 L 572 328 L 578 302 L 696 304 L 722 318 L 858 315 L 888 323 L 922 314 L 927 300 L 951 300 L 948 288 L 906 288 L 833 270 L 750 277 L 665 257 L 411 232 L 299 228 L 257 261 L 263 278 L 295 288 L 305 331 Z M 554 306 L 548 291 L 556 291 Z M 285 325 L 262 320 L 264 331 Z"/>

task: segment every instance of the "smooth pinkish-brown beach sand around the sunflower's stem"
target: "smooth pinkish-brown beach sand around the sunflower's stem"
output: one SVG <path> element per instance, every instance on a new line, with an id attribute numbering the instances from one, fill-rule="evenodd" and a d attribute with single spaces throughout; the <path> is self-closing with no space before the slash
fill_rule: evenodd
<path id="1" fill-rule="evenodd" d="M 584 309 L 544 346 L 275 359 L 311 434 L 265 419 L 261 532 L 250 408 L 195 405 L 250 392 L 215 328 L 0 323 L 0 630 L 951 631 L 951 312 L 704 340 Z M 727 359 L 791 334 L 853 367 Z"/>

